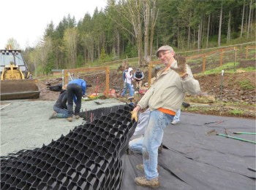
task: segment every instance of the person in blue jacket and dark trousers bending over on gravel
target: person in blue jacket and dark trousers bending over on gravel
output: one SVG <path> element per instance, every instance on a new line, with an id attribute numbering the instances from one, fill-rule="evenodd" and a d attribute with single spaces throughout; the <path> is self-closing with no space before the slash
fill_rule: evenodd
<path id="1" fill-rule="evenodd" d="M 72 122 L 73 100 L 75 102 L 75 119 L 79 119 L 82 96 L 86 94 L 86 82 L 83 79 L 74 79 L 67 84 L 67 120 Z"/>

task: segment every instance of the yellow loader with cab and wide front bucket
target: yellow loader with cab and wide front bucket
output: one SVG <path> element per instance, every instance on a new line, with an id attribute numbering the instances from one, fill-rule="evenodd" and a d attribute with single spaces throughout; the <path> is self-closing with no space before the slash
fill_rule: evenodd
<path id="1" fill-rule="evenodd" d="M 39 98 L 37 80 L 31 79 L 20 50 L 0 50 L 0 99 Z"/>

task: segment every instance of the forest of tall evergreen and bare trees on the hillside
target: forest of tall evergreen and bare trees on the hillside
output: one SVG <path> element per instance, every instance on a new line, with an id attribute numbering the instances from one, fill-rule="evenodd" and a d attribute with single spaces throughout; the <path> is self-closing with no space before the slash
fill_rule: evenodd
<path id="1" fill-rule="evenodd" d="M 255 13 L 254 0 L 108 0 L 78 22 L 70 15 L 58 25 L 49 21 L 42 41 L 24 55 L 43 74 L 127 57 L 142 66 L 163 44 L 200 50 L 255 41 Z"/>

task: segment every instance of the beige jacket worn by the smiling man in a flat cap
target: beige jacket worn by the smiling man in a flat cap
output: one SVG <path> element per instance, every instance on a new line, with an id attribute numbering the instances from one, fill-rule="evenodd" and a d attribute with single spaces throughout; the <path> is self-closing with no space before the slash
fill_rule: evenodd
<path id="1" fill-rule="evenodd" d="M 177 62 L 172 63 L 172 66 L 177 67 Z M 165 71 L 163 68 L 158 72 L 154 84 L 138 102 L 138 106 L 140 108 L 148 106 L 151 110 L 166 108 L 177 112 L 181 108 L 185 92 L 189 94 L 200 92 L 199 82 L 194 79 L 189 66 L 187 66 L 187 74 L 186 79 L 181 79 L 172 69 L 168 68 Z"/>

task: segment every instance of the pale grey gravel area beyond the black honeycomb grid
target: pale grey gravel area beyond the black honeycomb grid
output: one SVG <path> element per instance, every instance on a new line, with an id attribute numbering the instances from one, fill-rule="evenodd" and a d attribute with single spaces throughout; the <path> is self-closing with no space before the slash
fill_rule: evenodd
<path id="1" fill-rule="evenodd" d="M 96 102 L 102 103 L 98 105 Z M 55 101 L 8 100 L 10 105 L 1 105 L 1 156 L 23 149 L 35 149 L 57 140 L 61 134 L 82 124 L 82 118 L 48 119 L 53 113 Z M 6 104 L 5 104 L 6 105 Z M 124 105 L 116 99 L 83 101 L 81 111 Z M 3 108 L 4 107 L 4 108 Z"/>

